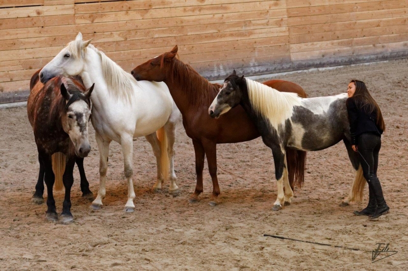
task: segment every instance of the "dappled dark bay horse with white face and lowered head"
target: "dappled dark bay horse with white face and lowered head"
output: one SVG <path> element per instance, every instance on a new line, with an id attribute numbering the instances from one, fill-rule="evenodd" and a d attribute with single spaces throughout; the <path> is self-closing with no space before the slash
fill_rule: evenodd
<path id="1" fill-rule="evenodd" d="M 45 181 L 48 194 L 46 218 L 58 220 L 53 186 L 56 181 L 56 190 L 61 190 L 62 182 L 65 199 L 60 220 L 62 223 L 69 223 L 73 219 L 70 212 L 70 193 L 75 161 L 80 168 L 83 196 L 93 198 L 83 167 L 83 158 L 91 149 L 88 121 L 91 113 L 89 97 L 93 86 L 86 91 L 80 78 L 63 76 L 55 77 L 44 85 L 38 80 L 39 72 L 40 70 L 31 79 L 27 103 L 27 113 L 34 130 L 40 163 L 33 201 L 38 204 L 43 202 Z"/>

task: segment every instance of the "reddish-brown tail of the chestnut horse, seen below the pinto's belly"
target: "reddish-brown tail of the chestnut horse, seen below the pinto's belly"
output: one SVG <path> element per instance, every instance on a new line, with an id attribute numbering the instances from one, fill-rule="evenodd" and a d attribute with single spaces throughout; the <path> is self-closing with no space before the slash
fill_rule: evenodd
<path id="1" fill-rule="evenodd" d="M 304 165 L 306 164 L 306 152 L 302 150 L 287 149 L 286 159 L 289 171 L 289 184 L 292 188 L 301 188 L 304 183 Z"/>

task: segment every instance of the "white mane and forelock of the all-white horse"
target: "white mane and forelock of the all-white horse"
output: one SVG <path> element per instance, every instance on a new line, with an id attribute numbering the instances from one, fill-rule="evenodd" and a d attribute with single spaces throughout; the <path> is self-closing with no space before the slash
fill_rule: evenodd
<path id="1" fill-rule="evenodd" d="M 116 97 L 120 97 L 125 100 L 130 100 L 134 92 L 134 84 L 137 84 L 136 79 L 130 74 L 125 72 L 119 65 L 117 65 L 112 59 L 110 59 L 104 52 L 99 51 L 95 46 L 89 44 L 87 48 L 81 50 L 82 41 L 74 40 L 68 43 L 68 50 L 75 58 L 85 57 L 81 55 L 81 52 L 86 54 L 88 48 L 94 50 L 101 59 L 103 76 L 108 85 L 108 89 Z"/>

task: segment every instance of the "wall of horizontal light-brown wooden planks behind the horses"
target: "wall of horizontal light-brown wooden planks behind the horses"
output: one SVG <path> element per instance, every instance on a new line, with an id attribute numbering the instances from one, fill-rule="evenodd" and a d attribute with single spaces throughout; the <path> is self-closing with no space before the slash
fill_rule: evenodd
<path id="1" fill-rule="evenodd" d="M 0 102 L 78 32 L 126 71 L 177 44 L 220 78 L 404 57 L 407 12 L 407 0 L 3 0 Z"/>

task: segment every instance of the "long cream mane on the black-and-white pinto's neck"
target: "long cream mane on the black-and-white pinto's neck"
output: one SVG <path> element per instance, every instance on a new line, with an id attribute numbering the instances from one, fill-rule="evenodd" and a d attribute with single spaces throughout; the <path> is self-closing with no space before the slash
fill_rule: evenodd
<path id="1" fill-rule="evenodd" d="M 251 106 L 260 116 L 277 128 L 292 116 L 293 107 L 300 105 L 296 93 L 278 92 L 276 89 L 245 78 Z"/>

